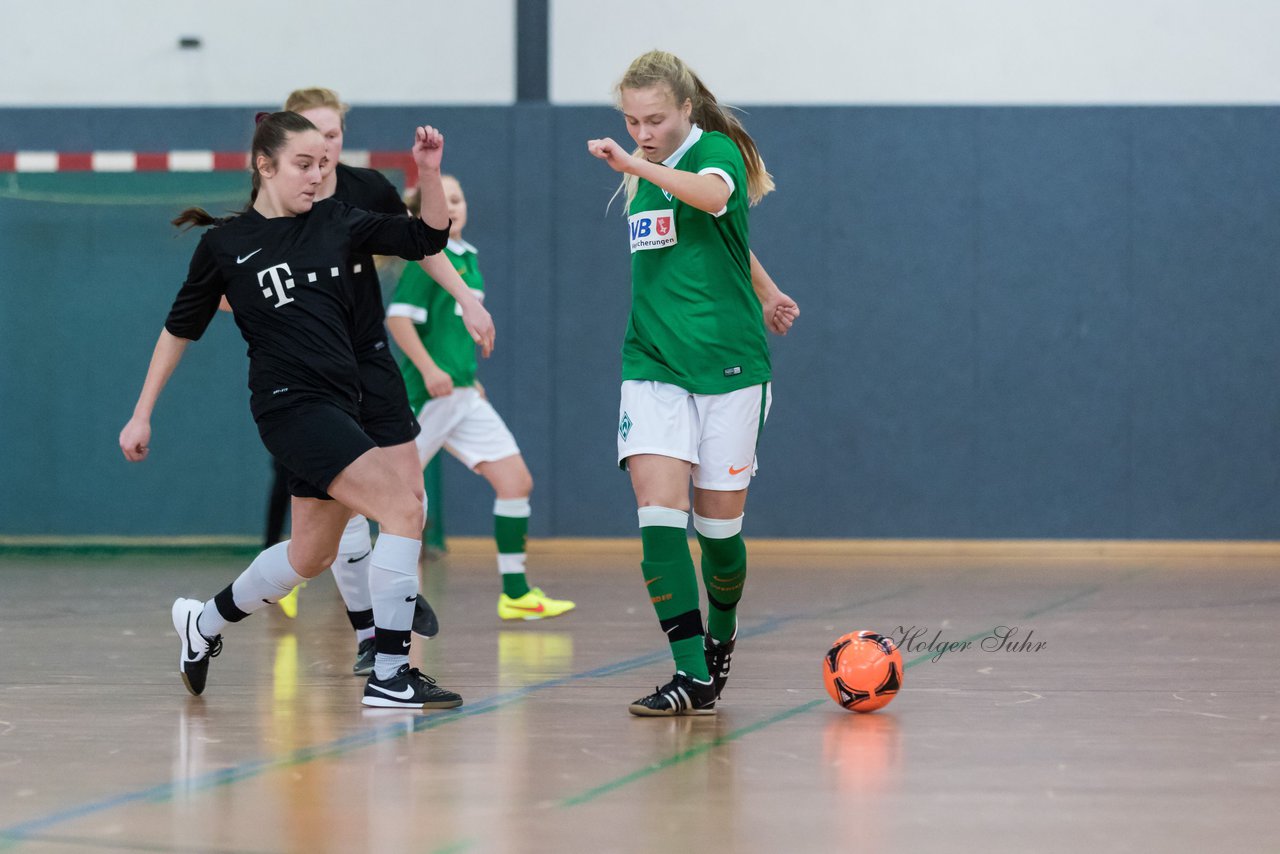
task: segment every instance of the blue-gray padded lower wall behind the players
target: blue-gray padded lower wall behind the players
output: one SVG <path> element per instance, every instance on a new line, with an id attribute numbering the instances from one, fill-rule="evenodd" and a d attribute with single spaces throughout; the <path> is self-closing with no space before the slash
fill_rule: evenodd
<path id="1" fill-rule="evenodd" d="M 613 466 L 627 250 L 604 108 L 431 109 L 498 352 L 481 376 L 538 535 L 628 534 Z M 351 117 L 351 149 L 422 115 Z M 0 110 L 0 151 L 243 147 L 243 109 Z M 804 311 L 773 339 L 756 535 L 1275 538 L 1280 110 L 758 108 L 753 246 Z M 143 182 L 147 182 L 143 187 Z M 0 175 L 0 534 L 256 534 L 269 466 L 215 324 L 115 446 L 195 238 L 236 175 Z M 140 189 L 142 188 L 142 189 Z M 67 195 L 163 204 L 67 204 Z M 59 196 L 61 201 L 33 201 Z M 210 201 L 211 200 L 211 201 Z M 136 200 L 131 200 L 136 201 Z M 453 534 L 489 497 L 445 470 Z"/>

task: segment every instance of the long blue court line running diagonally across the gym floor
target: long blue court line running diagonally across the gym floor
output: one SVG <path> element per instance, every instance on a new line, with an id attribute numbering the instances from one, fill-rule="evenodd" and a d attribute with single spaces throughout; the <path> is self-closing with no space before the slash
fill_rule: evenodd
<path id="1" fill-rule="evenodd" d="M 813 620 L 815 617 L 823 617 L 828 615 L 840 613 L 844 611 L 850 611 L 852 608 L 861 608 L 878 602 L 884 602 L 886 599 L 895 599 L 900 595 L 910 593 L 918 589 L 920 585 L 905 585 L 890 593 L 883 593 L 877 597 L 870 597 L 867 599 L 858 599 L 855 602 L 849 602 L 833 608 L 823 608 L 820 611 L 810 611 L 804 613 L 795 613 L 783 617 L 772 617 L 760 622 L 751 629 L 744 629 L 740 636 L 749 638 L 754 635 L 768 634 L 777 631 L 778 629 L 795 622 L 797 620 Z M 81 804 L 78 807 L 69 807 L 67 809 L 50 813 L 42 818 L 33 818 L 12 827 L 0 830 L 0 851 L 10 849 L 13 845 L 22 841 L 38 841 L 38 839 L 32 839 L 35 834 L 38 834 L 50 827 L 61 825 L 64 822 L 76 821 L 78 818 L 84 818 L 95 813 L 108 812 L 118 807 L 127 807 L 136 803 L 164 803 L 172 800 L 178 794 L 187 794 L 193 791 L 204 791 L 209 789 L 216 789 L 219 786 L 227 786 L 242 780 L 248 780 L 259 775 L 279 771 L 282 768 L 288 768 L 296 764 L 302 764 L 306 762 L 312 762 L 315 759 L 329 758 L 334 755 L 340 755 L 343 753 L 349 753 L 352 750 L 358 750 L 362 748 L 379 744 L 381 741 L 388 741 L 390 739 L 399 739 L 412 732 L 421 732 L 425 730 L 434 730 L 436 727 L 444 726 L 447 723 L 454 723 L 466 718 L 476 717 L 479 714 L 486 714 L 495 709 L 511 705 L 512 703 L 518 703 L 524 700 L 530 694 L 536 691 L 544 691 L 552 688 L 561 688 L 563 685 L 570 685 L 572 682 L 586 680 L 586 679 L 599 679 L 603 676 L 612 676 L 613 673 L 621 673 L 645 665 L 652 665 L 659 661 L 666 661 L 671 657 L 668 649 L 662 649 L 659 652 L 653 652 L 645 656 L 637 656 L 635 658 L 628 658 L 622 662 L 613 665 L 604 665 L 593 670 L 582 671 L 580 673 L 573 673 L 571 676 L 562 676 L 559 679 L 552 679 L 535 685 L 526 685 L 503 694 L 495 694 L 493 697 L 477 700 L 476 703 L 462 707 L 457 711 L 444 711 L 431 714 L 422 714 L 419 712 L 406 712 L 406 714 L 412 714 L 412 721 L 408 726 L 394 725 L 379 727 L 375 730 L 369 730 L 365 732 L 357 732 L 355 735 L 338 739 L 335 741 L 329 741 L 325 744 L 298 748 L 282 757 L 274 759 L 256 759 L 252 762 L 246 762 L 232 768 L 223 768 L 220 771 L 212 771 L 210 773 L 200 775 L 192 777 L 191 780 L 179 780 L 159 784 L 156 786 L 150 786 L 147 789 L 140 789 L 136 791 L 125 793 L 123 795 L 115 795 L 113 798 L 104 798 L 102 800 L 90 802 L 87 804 Z M 452 849 L 451 849 L 452 850 Z"/>

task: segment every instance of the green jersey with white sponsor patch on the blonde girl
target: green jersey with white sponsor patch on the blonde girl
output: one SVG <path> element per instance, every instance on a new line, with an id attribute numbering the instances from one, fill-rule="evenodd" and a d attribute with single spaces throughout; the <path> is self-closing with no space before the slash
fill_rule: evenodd
<path id="1" fill-rule="evenodd" d="M 631 227 L 631 318 L 622 379 L 723 394 L 769 380 L 769 344 L 751 289 L 746 165 L 737 145 L 696 124 L 663 165 L 714 173 L 732 192 L 718 215 L 640 181 Z"/>

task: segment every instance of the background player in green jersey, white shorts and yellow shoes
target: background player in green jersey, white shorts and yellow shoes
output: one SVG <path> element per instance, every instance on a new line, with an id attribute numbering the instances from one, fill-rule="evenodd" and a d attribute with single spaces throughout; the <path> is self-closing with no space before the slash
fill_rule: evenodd
<path id="1" fill-rule="evenodd" d="M 442 183 L 452 220 L 443 255 L 483 300 L 484 278 L 476 264 L 476 248 L 462 239 L 466 196 L 452 175 L 442 175 Z M 415 206 L 412 200 L 410 206 Z M 573 603 L 552 599 L 540 588 L 529 585 L 525 543 L 534 479 L 511 430 L 476 379 L 475 341 L 460 311 L 457 300 L 416 264 L 404 268 L 387 307 L 387 328 L 404 352 L 401 375 L 410 406 L 422 426 L 416 439 L 419 462 L 426 467 L 443 447 L 493 487 L 494 539 L 502 575 L 498 616 L 502 620 L 557 617 L 571 611 Z"/>

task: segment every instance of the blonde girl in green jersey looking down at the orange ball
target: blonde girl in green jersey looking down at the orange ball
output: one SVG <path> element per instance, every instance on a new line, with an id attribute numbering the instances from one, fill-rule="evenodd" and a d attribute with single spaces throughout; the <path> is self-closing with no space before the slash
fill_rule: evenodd
<path id="1" fill-rule="evenodd" d="M 622 346 L 618 462 L 631 472 L 641 570 L 676 673 L 632 714 L 714 714 L 746 577 L 742 511 L 769 408 L 765 329 L 800 311 L 750 251 L 748 209 L 773 189 L 755 142 L 677 56 L 650 51 L 618 83 L 636 142 L 588 151 L 623 174 L 631 316 Z M 694 529 L 709 603 L 707 632 Z"/>

